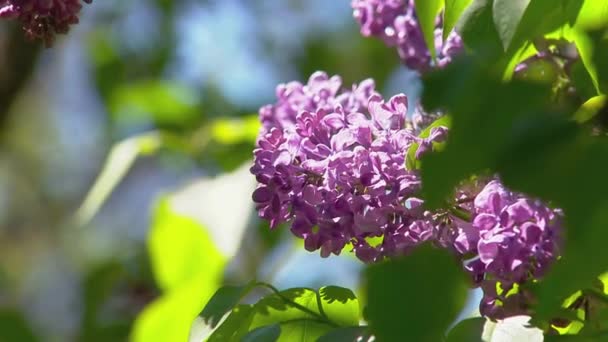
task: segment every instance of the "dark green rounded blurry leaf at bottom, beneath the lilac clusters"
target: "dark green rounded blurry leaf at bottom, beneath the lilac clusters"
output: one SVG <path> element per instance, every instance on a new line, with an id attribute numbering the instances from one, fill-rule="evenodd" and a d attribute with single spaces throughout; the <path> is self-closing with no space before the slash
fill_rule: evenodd
<path id="1" fill-rule="evenodd" d="M 367 317 L 379 341 L 441 341 L 467 293 L 461 267 L 444 250 L 425 245 L 411 255 L 365 271 Z"/>

